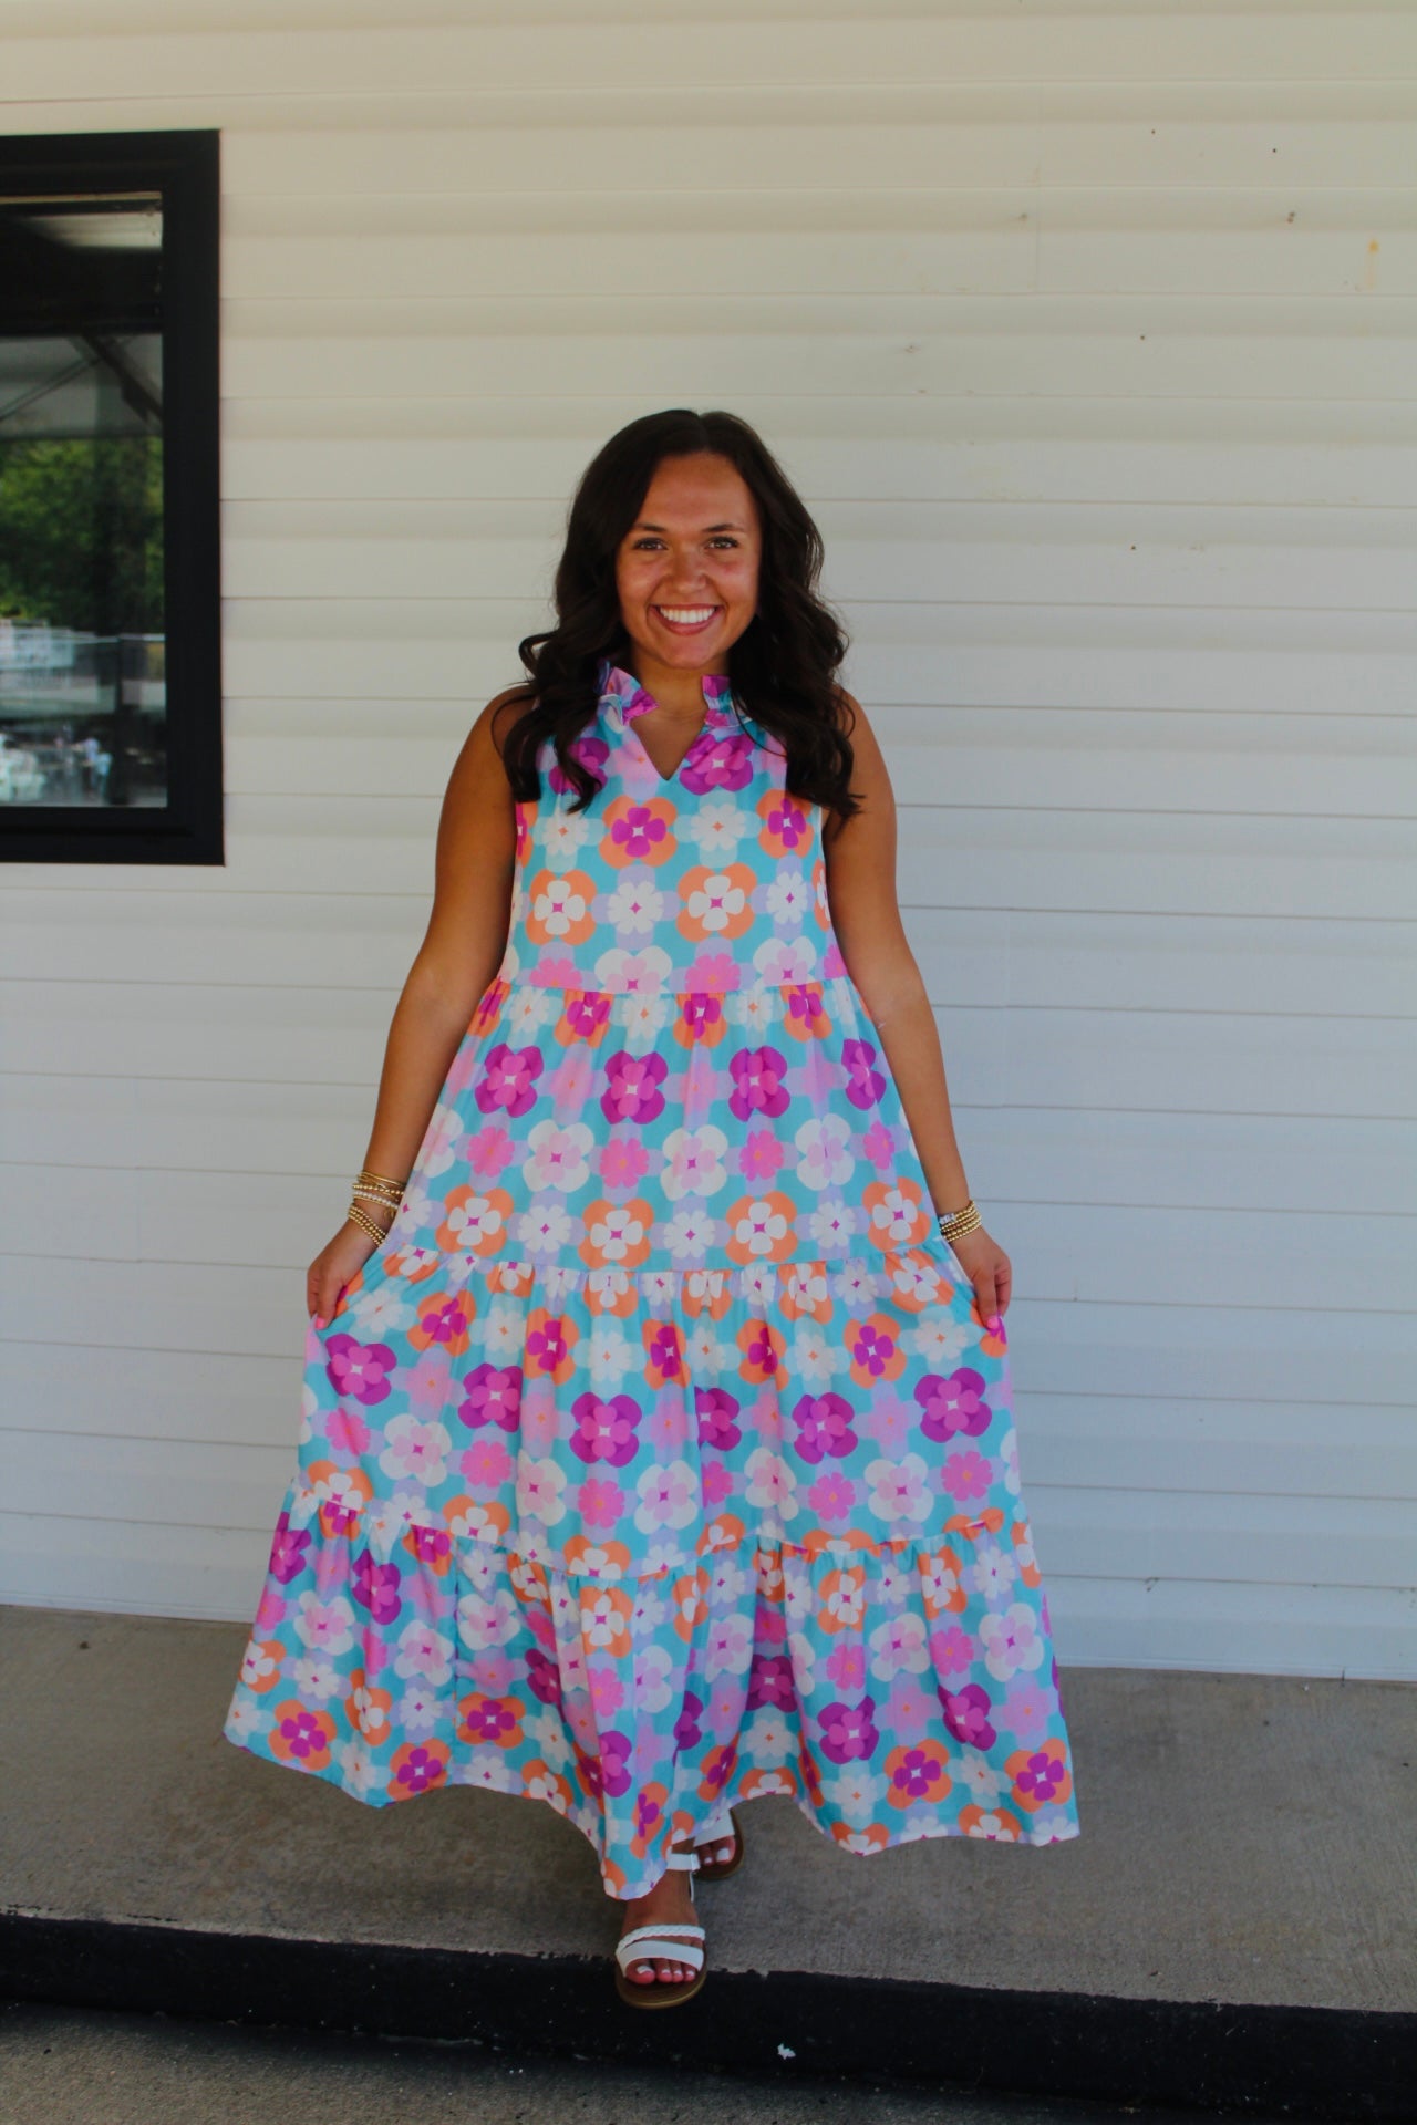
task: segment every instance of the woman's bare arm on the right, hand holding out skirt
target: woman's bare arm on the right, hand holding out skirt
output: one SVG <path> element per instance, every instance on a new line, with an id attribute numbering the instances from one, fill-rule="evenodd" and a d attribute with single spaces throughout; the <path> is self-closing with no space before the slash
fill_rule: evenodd
<path id="1" fill-rule="evenodd" d="M 964 1160 L 950 1114 L 945 1058 L 897 901 L 897 812 L 890 774 L 865 710 L 850 695 L 848 703 L 854 716 L 850 737 L 856 754 L 852 790 L 860 797 L 860 812 L 846 820 L 831 814 L 822 831 L 826 899 L 848 973 L 901 1092 L 935 1211 L 945 1216 L 969 1201 Z M 954 1252 L 973 1279 L 981 1320 L 1005 1313 L 1013 1275 L 1003 1247 L 984 1226 L 975 1226 L 954 1243 Z"/>

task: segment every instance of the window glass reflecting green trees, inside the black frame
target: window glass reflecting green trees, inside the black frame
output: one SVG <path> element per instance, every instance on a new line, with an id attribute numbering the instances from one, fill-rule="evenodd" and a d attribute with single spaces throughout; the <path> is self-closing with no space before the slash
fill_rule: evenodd
<path id="1" fill-rule="evenodd" d="M 0 200 L 0 803 L 168 803 L 161 196 Z"/>

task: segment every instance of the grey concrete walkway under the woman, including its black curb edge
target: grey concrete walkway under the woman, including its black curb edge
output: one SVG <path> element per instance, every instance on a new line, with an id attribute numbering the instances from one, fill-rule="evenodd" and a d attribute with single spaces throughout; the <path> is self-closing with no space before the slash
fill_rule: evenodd
<path id="1" fill-rule="evenodd" d="M 548 1806 L 363 1808 L 221 1738 L 242 1626 L 6 1609 L 0 1991 L 618 2061 L 1411 2116 L 1417 1692 L 1075 1668 L 1083 1834 L 850 1857 L 788 1802 L 701 1891 L 712 1978 L 610 1985 Z"/>

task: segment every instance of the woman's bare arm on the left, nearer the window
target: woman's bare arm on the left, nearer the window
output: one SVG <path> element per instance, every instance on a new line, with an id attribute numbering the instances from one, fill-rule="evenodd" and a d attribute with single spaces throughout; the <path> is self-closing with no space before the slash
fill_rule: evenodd
<path id="1" fill-rule="evenodd" d="M 404 1182 L 438 1103 L 438 1092 L 478 997 L 491 984 L 508 937 L 516 808 L 495 737 L 506 742 L 516 688 L 489 701 L 457 756 L 438 822 L 433 912 L 399 994 L 385 1046 L 365 1167 Z M 363 1203 L 376 1224 L 391 1216 Z M 340 1292 L 374 1241 L 344 1224 L 306 1273 L 306 1307 L 329 1320 Z"/>

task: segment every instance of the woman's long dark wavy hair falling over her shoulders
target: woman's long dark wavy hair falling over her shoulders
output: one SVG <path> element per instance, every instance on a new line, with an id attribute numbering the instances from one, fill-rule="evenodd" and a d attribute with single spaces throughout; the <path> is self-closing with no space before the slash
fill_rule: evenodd
<path id="1" fill-rule="evenodd" d="M 818 597 L 822 536 L 746 421 L 684 406 L 622 427 L 591 459 L 576 489 L 554 580 L 557 625 L 518 644 L 527 680 L 508 701 L 525 708 L 503 746 L 518 803 L 540 795 L 535 763 L 548 737 L 563 776 L 578 790 L 571 812 L 584 812 L 601 788 L 574 744 L 597 710 L 601 657 L 625 667 L 631 652 L 616 557 L 659 465 L 705 450 L 727 457 L 744 478 L 763 540 L 758 610 L 729 652 L 727 676 L 739 720 L 748 714 L 780 740 L 792 797 L 843 818 L 860 810 L 850 790 L 850 708 L 837 684 L 848 644 L 837 616 Z"/>

